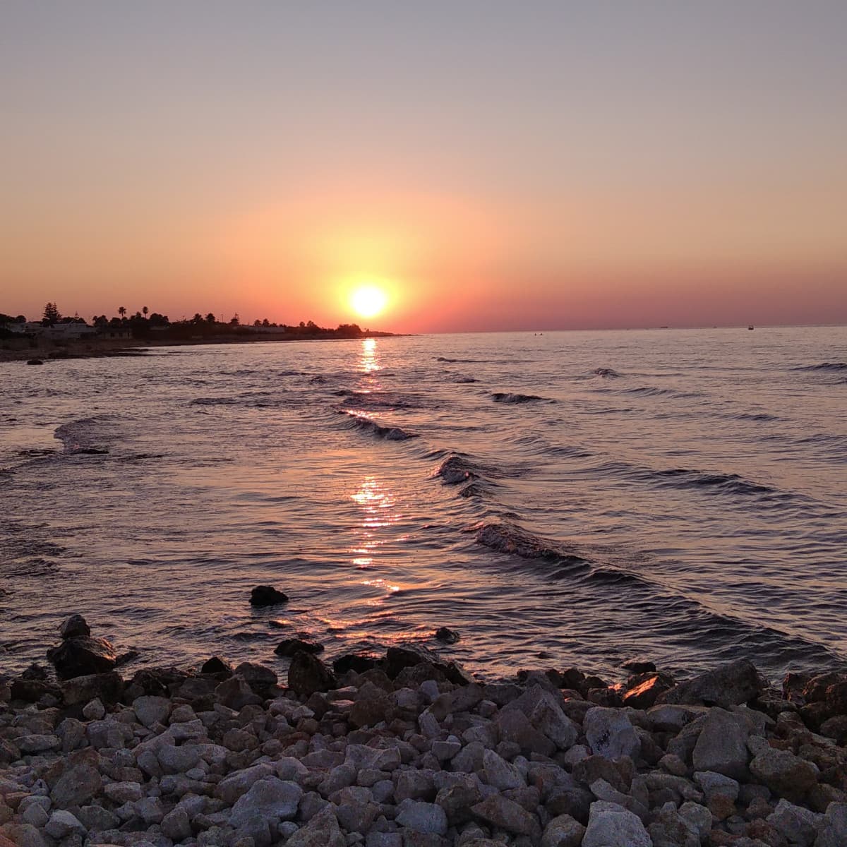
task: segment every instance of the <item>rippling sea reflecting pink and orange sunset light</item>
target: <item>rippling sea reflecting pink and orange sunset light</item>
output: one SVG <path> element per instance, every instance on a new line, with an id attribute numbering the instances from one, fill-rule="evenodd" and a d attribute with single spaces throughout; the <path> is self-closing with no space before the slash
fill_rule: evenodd
<path id="1" fill-rule="evenodd" d="M 766 328 L 0 363 L 0 667 L 70 612 L 128 670 L 440 626 L 483 678 L 843 665 L 845 362 Z"/>

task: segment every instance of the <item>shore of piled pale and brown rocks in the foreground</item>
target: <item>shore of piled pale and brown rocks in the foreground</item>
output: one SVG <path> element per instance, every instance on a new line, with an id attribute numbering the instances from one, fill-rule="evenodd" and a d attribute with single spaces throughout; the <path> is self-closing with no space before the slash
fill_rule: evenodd
<path id="1" fill-rule="evenodd" d="M 455 635 L 455 634 L 452 634 Z M 123 677 L 79 616 L 0 678 L 0 847 L 844 847 L 847 670 L 498 683 L 419 645 Z"/>

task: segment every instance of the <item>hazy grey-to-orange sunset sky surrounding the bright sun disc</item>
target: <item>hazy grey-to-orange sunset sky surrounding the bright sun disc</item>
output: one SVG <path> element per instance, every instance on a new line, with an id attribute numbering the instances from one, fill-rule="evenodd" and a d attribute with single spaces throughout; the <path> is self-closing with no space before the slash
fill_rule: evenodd
<path id="1" fill-rule="evenodd" d="M 0 312 L 847 323 L 844 43 L 843 0 L 5 0 Z"/>

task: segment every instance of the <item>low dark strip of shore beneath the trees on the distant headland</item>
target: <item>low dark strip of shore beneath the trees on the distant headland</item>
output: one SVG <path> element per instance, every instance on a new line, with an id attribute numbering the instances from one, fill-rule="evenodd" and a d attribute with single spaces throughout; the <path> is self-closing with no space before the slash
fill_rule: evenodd
<path id="1" fill-rule="evenodd" d="M 102 340 L 63 340 L 53 342 L 48 340 L 37 340 L 31 346 L 29 340 L 4 340 L 0 346 L 0 363 L 2 362 L 27 362 L 30 359 L 41 359 L 42 362 L 63 361 L 65 359 L 93 359 L 93 358 L 119 358 L 119 357 L 143 357 L 152 347 L 184 347 L 184 346 L 208 346 L 221 344 L 268 344 L 280 341 L 357 341 L 366 338 L 403 338 L 407 333 L 373 332 L 365 333 L 358 338 L 339 338 L 337 336 L 313 335 L 304 337 L 290 333 L 280 333 L 264 338 L 240 338 L 233 336 L 217 336 L 203 339 L 102 339 Z"/>

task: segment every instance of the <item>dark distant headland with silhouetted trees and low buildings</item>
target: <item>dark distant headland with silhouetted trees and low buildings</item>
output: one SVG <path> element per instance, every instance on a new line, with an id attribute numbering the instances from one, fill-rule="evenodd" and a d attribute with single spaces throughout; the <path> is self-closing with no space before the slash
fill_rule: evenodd
<path id="1" fill-rule="evenodd" d="M 121 307 L 123 312 L 126 310 Z M 262 341 L 351 340 L 395 337 L 395 333 L 340 324 L 335 329 L 313 321 L 272 324 L 268 318 L 241 324 L 236 314 L 219 321 L 212 313 L 171 322 L 167 315 L 144 312 L 126 317 L 63 317 L 54 303 L 47 303 L 39 321 L 24 315 L 0 313 L 0 362 L 50 359 L 143 356 L 147 348 L 203 344 L 254 344 Z"/>

